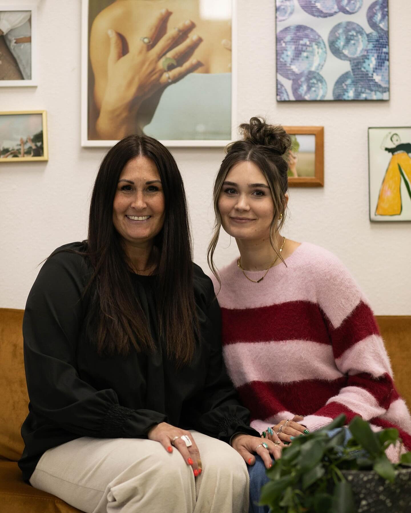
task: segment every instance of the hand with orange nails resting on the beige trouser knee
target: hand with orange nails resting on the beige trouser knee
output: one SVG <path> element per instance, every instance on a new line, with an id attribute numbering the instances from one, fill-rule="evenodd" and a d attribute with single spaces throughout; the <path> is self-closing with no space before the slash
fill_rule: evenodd
<path id="1" fill-rule="evenodd" d="M 182 436 L 189 437 L 192 443 L 190 447 L 185 445 L 184 440 L 180 438 Z M 185 463 L 193 467 L 194 476 L 197 477 L 201 473 L 202 467 L 200 452 L 190 431 L 185 431 L 184 429 L 172 426 L 166 422 L 161 422 L 148 431 L 147 438 L 148 440 L 160 442 L 167 452 L 173 452 L 172 445 L 174 445 L 174 447 L 181 453 Z"/>

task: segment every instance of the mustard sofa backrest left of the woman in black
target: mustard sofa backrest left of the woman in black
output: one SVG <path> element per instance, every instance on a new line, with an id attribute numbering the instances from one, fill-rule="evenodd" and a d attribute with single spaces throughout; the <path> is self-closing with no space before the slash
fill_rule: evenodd
<path id="1" fill-rule="evenodd" d="M 20 428 L 28 413 L 23 313 L 24 310 L 0 308 L 0 458 L 12 461 L 22 455 Z"/>

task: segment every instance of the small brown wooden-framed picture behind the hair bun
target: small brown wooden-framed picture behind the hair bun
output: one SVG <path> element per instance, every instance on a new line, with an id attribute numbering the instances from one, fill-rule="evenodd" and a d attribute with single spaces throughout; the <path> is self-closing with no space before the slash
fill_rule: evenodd
<path id="1" fill-rule="evenodd" d="M 288 156 L 290 187 L 324 186 L 324 127 L 284 127 L 291 136 Z"/>

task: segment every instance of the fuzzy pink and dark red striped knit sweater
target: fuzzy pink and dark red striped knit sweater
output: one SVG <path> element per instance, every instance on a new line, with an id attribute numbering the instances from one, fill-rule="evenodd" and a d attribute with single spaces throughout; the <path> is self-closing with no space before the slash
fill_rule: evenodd
<path id="1" fill-rule="evenodd" d="M 340 413 L 347 422 L 359 415 L 376 431 L 398 428 L 410 450 L 411 417 L 357 283 L 313 244 L 298 246 L 286 264 L 252 283 L 235 260 L 221 271 L 221 290 L 214 279 L 226 365 L 251 425 L 262 432 L 303 415 L 315 430 Z M 257 280 L 261 271 L 247 275 Z"/>

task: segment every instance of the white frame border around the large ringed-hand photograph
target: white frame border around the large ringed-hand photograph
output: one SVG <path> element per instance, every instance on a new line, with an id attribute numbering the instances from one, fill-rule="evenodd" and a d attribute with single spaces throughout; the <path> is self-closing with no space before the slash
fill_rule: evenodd
<path id="1" fill-rule="evenodd" d="M 231 139 L 230 140 L 163 140 L 167 147 L 225 147 L 237 136 L 237 0 L 231 1 Z M 83 147 L 111 147 L 118 140 L 88 139 L 88 5 L 82 0 L 81 20 L 81 145 Z"/>

